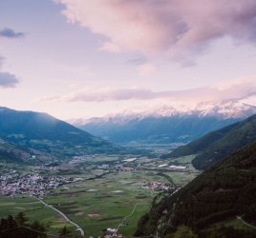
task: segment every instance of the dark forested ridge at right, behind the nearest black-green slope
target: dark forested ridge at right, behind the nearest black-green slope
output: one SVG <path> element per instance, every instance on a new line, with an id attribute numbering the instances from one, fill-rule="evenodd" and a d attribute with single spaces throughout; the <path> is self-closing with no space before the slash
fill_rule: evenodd
<path id="1" fill-rule="evenodd" d="M 163 157 L 197 154 L 193 160 L 194 167 L 207 169 L 226 155 L 243 148 L 253 141 L 256 141 L 256 115 L 247 118 L 243 122 L 210 132 Z"/>

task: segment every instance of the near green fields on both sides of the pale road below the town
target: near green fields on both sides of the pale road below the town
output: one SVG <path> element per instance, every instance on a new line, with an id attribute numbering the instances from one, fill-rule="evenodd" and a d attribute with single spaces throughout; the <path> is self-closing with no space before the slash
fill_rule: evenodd
<path id="1" fill-rule="evenodd" d="M 109 174 L 101 179 L 57 189 L 52 195 L 45 197 L 44 201 L 64 212 L 85 230 L 86 236 L 102 235 L 105 228 L 117 228 L 122 218 L 129 215 L 138 204 L 127 226 L 120 228 L 124 235 L 132 235 L 137 228 L 139 217 L 150 207 L 153 197 L 157 194 L 155 191 L 141 188 L 143 183 L 152 179 L 163 182 L 162 177 L 149 172 Z M 53 209 L 46 208 L 34 198 L 0 196 L 1 217 L 9 214 L 15 216 L 20 211 L 25 212 L 30 220 L 40 221 L 53 233 L 67 226 Z M 69 224 L 68 226 L 70 227 Z"/>

